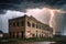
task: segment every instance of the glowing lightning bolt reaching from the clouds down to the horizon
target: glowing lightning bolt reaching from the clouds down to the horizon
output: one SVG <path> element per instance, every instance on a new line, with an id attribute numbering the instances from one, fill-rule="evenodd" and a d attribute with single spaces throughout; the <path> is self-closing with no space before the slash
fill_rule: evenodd
<path id="1" fill-rule="evenodd" d="M 57 10 L 57 9 L 55 9 L 55 10 L 50 9 L 48 11 L 51 13 L 50 26 L 54 29 L 53 24 L 55 24 L 55 22 L 54 22 L 55 14 L 56 13 L 66 13 L 66 11 L 62 11 L 62 10 Z M 53 34 L 55 34 L 55 32 L 56 32 L 56 30 L 53 30 Z"/>

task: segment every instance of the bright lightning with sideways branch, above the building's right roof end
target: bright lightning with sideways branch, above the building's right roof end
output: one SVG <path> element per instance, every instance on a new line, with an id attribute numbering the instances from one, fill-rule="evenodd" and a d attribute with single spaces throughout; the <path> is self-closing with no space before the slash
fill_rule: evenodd
<path id="1" fill-rule="evenodd" d="M 57 10 L 57 9 L 50 9 L 48 11 L 51 12 L 51 20 L 50 20 L 50 26 L 51 28 L 53 28 L 53 24 L 52 23 L 54 23 L 53 19 L 54 19 L 54 15 L 56 13 L 66 13 L 66 11 Z"/>

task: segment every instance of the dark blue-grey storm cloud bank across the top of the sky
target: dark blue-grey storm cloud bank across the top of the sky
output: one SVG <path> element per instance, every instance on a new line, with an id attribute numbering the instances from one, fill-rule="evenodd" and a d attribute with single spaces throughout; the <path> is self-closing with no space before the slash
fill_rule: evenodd
<path id="1" fill-rule="evenodd" d="M 28 4 L 25 3 L 28 2 Z M 29 2 L 35 3 L 30 4 Z M 38 3 L 38 4 L 37 4 Z M 40 4 L 42 3 L 42 4 Z M 0 13 L 6 13 L 3 10 L 15 10 L 15 11 L 23 11 L 28 8 L 38 8 L 44 4 L 48 6 L 62 6 L 65 4 L 66 0 L 0 0 Z M 21 7 L 22 6 L 22 7 Z M 32 7 L 33 6 L 33 7 Z M 22 9 L 22 10 L 21 10 Z"/>

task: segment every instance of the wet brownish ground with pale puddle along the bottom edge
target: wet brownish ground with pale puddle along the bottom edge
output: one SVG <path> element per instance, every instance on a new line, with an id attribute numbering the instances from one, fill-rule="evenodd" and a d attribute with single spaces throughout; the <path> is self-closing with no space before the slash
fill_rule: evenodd
<path id="1" fill-rule="evenodd" d="M 55 42 L 26 42 L 26 41 L 8 41 L 8 40 L 2 40 L 1 41 L 3 44 L 51 44 Z"/>

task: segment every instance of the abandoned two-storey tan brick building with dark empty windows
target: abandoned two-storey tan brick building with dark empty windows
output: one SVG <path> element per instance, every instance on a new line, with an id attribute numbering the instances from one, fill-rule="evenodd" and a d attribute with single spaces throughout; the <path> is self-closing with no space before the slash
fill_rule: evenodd
<path id="1" fill-rule="evenodd" d="M 10 37 L 52 37 L 53 29 L 33 16 L 23 15 L 9 20 Z"/>

